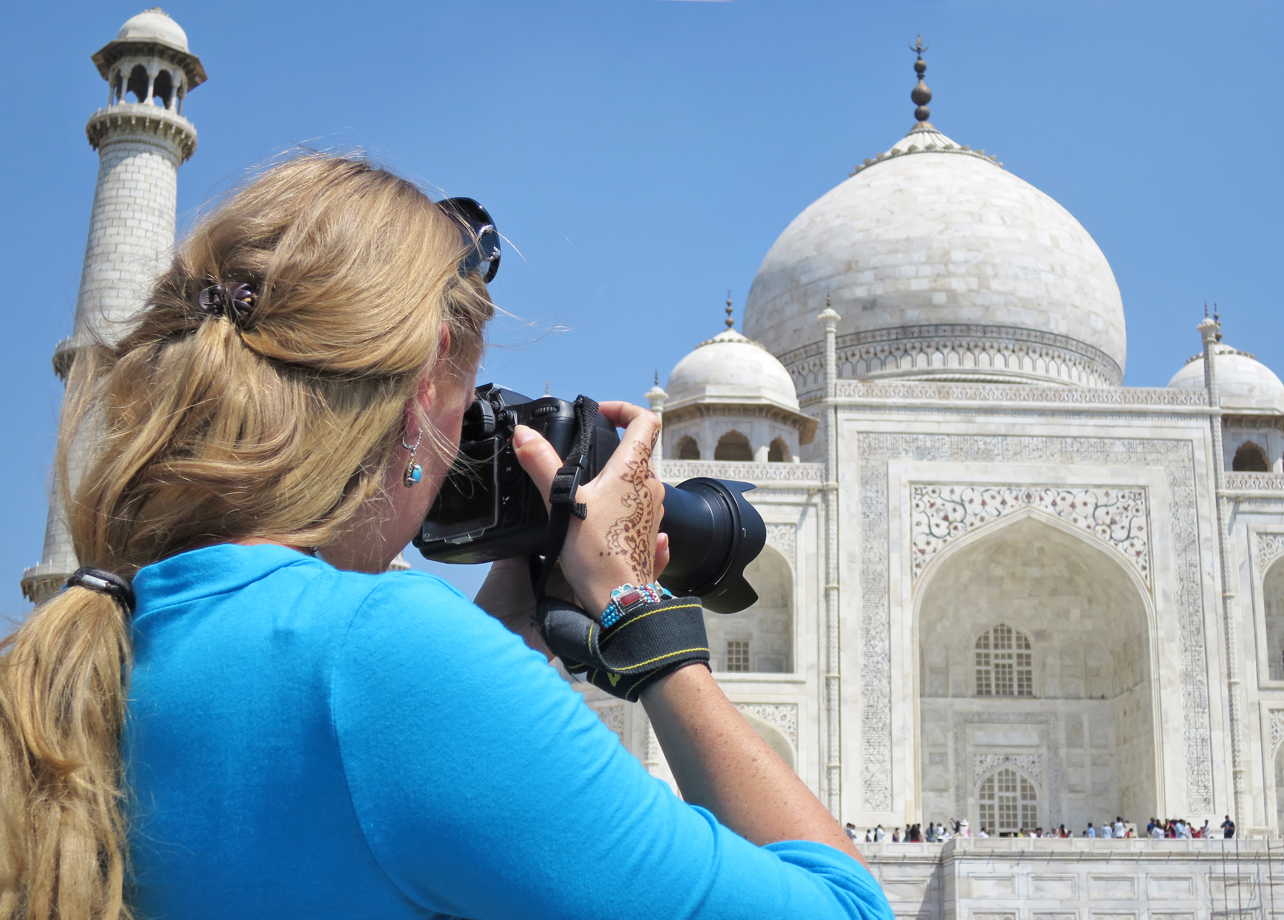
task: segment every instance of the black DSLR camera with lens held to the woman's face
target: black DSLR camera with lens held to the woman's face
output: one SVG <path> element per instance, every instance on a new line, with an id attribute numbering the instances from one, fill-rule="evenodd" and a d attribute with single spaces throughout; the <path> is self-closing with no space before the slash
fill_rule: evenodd
<path id="1" fill-rule="evenodd" d="M 544 549 L 548 514 L 535 484 L 517 464 L 512 432 L 535 429 L 566 457 L 575 443 L 574 403 L 538 400 L 485 384 L 464 414 L 460 454 L 424 520 L 415 546 L 425 559 L 489 563 L 537 555 Z M 589 437 L 592 479 L 619 446 L 615 427 L 597 415 Z M 758 600 L 745 567 L 763 551 L 767 528 L 743 492 L 746 482 L 696 478 L 664 487 L 669 567 L 660 582 L 675 595 L 700 597 L 707 610 L 736 613 Z"/>

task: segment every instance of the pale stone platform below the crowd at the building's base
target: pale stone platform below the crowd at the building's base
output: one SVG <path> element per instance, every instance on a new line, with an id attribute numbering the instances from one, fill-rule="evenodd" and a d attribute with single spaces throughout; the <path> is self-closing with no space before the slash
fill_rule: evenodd
<path id="1" fill-rule="evenodd" d="M 898 917 L 1284 920 L 1284 840 L 858 844 Z"/>

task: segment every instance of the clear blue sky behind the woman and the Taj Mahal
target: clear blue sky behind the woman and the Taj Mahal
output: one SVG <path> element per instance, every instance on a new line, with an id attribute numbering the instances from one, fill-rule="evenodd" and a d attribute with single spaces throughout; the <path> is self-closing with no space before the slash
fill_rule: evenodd
<path id="1" fill-rule="evenodd" d="M 105 96 L 89 58 L 143 5 L 5 5 L 0 614 L 27 609 L 18 579 L 45 527 L 49 356 L 71 329 L 98 166 L 83 125 Z M 166 12 L 209 73 L 185 109 L 200 141 L 180 231 L 297 144 L 365 150 L 478 198 L 512 242 L 493 294 L 519 320 L 494 329 L 483 378 L 639 401 L 720 329 L 728 288 L 738 321 L 790 220 L 910 127 L 922 32 L 932 122 L 1061 202 L 1109 258 L 1127 384 L 1163 385 L 1198 351 L 1206 299 L 1229 343 L 1280 371 L 1281 9 L 178 0 Z"/>

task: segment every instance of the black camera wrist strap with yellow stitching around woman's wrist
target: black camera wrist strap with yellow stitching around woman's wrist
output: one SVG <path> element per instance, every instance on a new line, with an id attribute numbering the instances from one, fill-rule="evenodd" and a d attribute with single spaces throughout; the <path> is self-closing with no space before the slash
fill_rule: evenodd
<path id="1" fill-rule="evenodd" d="M 535 622 L 550 651 L 561 658 L 573 675 L 583 675 L 606 693 L 637 702 L 638 695 L 665 675 L 687 664 L 709 666 L 709 639 L 698 597 L 669 597 L 657 604 L 630 608 L 603 628 L 574 604 L 550 597 L 544 588 L 552 574 L 570 517 L 587 517 L 575 501 L 588 468 L 589 439 L 597 423 L 597 403 L 586 396 L 575 400 L 575 443 L 553 477 L 548 495 L 548 536 L 543 563 L 534 578 Z M 532 574 L 535 574 L 532 558 Z"/>

